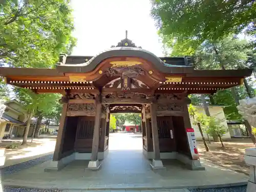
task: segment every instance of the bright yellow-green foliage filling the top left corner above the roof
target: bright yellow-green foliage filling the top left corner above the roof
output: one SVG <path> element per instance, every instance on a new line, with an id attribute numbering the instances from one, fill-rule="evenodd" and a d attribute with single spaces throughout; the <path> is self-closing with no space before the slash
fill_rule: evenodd
<path id="1" fill-rule="evenodd" d="M 67 0 L 7 0 L 0 14 L 0 58 L 15 67 L 51 68 L 76 39 Z"/>

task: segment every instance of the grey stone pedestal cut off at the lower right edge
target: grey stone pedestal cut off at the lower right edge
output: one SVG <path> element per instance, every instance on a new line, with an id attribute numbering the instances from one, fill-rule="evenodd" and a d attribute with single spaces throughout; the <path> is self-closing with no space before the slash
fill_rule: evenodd
<path id="1" fill-rule="evenodd" d="M 246 148 L 244 160 L 250 165 L 250 178 L 247 185 L 247 192 L 256 191 L 256 148 Z"/>

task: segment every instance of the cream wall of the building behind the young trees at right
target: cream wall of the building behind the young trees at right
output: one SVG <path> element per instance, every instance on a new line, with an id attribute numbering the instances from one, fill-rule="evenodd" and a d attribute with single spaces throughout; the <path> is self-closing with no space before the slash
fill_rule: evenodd
<path id="1" fill-rule="evenodd" d="M 196 106 L 196 108 L 197 108 L 197 110 L 198 110 L 199 113 L 205 114 L 203 107 Z M 222 107 L 221 107 L 221 106 L 208 106 L 208 108 L 209 108 L 210 115 L 211 115 L 211 116 L 215 116 L 215 117 L 217 117 L 218 119 L 220 119 L 221 122 L 222 122 L 221 124 L 222 124 L 223 126 L 225 126 L 226 129 L 228 129 L 227 121 L 226 121 L 225 114 L 224 114 L 224 111 L 223 111 Z M 201 137 L 200 131 L 199 131 L 199 129 L 198 129 L 198 126 L 194 124 L 194 120 L 193 120 L 192 117 L 190 117 L 190 122 L 191 122 L 191 126 L 192 126 L 193 129 L 195 130 L 196 139 L 199 140 L 199 141 L 202 140 L 202 137 Z M 206 134 L 206 133 L 204 133 L 204 137 L 205 137 L 206 140 L 208 140 L 208 137 L 207 137 L 207 134 Z M 230 138 L 231 138 L 231 137 L 230 137 L 230 134 L 229 134 L 228 131 L 227 131 L 227 133 L 226 133 L 225 135 L 223 135 L 223 137 L 222 137 L 222 139 L 230 139 Z M 212 140 L 212 137 L 210 137 L 210 139 Z"/>

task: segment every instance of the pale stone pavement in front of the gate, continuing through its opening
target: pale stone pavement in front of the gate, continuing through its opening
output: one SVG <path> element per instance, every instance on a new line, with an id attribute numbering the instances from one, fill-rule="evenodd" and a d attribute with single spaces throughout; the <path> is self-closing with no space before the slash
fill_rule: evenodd
<path id="1" fill-rule="evenodd" d="M 206 170 L 188 170 L 176 160 L 164 160 L 166 170 L 154 172 L 142 154 L 141 135 L 115 133 L 110 137 L 109 156 L 98 171 L 87 169 L 88 161 L 77 160 L 59 172 L 44 172 L 45 162 L 3 176 L 4 185 L 58 189 L 163 189 L 204 188 L 246 184 L 248 177 L 202 162 Z M 181 189 L 175 189 L 182 191 Z M 174 191 L 175 191 L 174 190 Z M 136 190 L 137 191 L 137 190 Z M 151 191 L 148 191 L 151 192 Z M 173 191 L 172 191 L 173 192 Z"/>

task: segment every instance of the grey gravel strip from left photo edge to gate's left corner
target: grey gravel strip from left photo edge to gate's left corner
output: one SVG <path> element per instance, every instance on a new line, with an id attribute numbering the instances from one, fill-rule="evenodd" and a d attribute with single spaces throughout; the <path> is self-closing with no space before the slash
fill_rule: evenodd
<path id="1" fill-rule="evenodd" d="M 32 160 L 29 160 L 29 161 L 26 161 L 23 163 L 18 163 L 16 165 L 4 167 L 1 169 L 1 173 L 2 173 L 2 175 L 13 174 L 13 173 L 18 172 L 19 170 L 23 170 L 25 168 L 29 168 L 29 167 L 44 163 L 45 161 L 52 160 L 52 158 L 53 158 L 53 154 L 42 156 L 42 157 L 32 159 Z"/>

